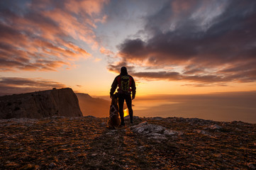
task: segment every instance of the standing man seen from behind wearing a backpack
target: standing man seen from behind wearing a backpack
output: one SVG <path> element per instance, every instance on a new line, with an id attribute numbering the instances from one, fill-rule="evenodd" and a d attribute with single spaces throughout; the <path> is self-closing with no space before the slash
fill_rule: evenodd
<path id="1" fill-rule="evenodd" d="M 121 126 L 124 126 L 123 119 L 123 103 L 126 100 L 126 105 L 128 108 L 128 112 L 130 115 L 130 123 L 133 123 L 133 108 L 132 108 L 132 100 L 135 98 L 136 94 L 136 86 L 133 77 L 128 75 L 126 67 L 121 68 L 121 73 L 114 79 L 113 84 L 110 90 L 110 97 L 112 98 L 113 93 L 116 91 L 116 87 L 118 86 L 118 106 L 119 106 L 119 114 L 121 118 Z M 132 98 L 130 98 L 130 93 L 132 92 Z"/>

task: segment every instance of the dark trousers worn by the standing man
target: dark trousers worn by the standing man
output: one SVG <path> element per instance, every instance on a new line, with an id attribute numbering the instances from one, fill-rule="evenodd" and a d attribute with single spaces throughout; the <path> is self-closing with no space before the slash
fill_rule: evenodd
<path id="1" fill-rule="evenodd" d="M 126 106 L 129 111 L 130 115 L 130 122 L 133 122 L 133 108 L 132 108 L 132 99 L 130 97 L 130 94 L 118 94 L 118 106 L 119 106 L 119 114 L 121 118 L 121 125 L 124 124 L 124 119 L 123 119 L 123 103 L 124 100 L 126 100 Z"/>

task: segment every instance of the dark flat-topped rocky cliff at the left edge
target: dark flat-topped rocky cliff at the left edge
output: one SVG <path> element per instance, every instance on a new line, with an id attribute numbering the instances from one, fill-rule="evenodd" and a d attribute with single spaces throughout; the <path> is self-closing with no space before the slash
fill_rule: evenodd
<path id="1" fill-rule="evenodd" d="M 0 97 L 0 118 L 81 117 L 72 89 L 52 89 Z"/>

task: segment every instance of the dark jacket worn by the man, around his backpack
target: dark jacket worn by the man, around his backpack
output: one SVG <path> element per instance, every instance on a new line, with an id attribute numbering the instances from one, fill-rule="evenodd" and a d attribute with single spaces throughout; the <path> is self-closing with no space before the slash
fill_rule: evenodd
<path id="1" fill-rule="evenodd" d="M 136 94 L 136 86 L 135 86 L 135 81 L 133 79 L 133 77 L 131 77 L 129 74 L 126 75 L 121 75 L 119 74 L 114 80 L 113 80 L 113 84 L 111 86 L 111 90 L 110 90 L 110 95 L 112 96 L 113 93 L 116 91 L 116 87 L 118 86 L 118 92 L 120 93 L 125 93 L 126 91 L 122 91 L 121 89 L 121 77 L 123 76 L 128 76 L 130 81 L 129 81 L 129 90 L 128 93 L 130 93 L 130 91 L 133 92 L 133 96 L 135 96 Z M 126 92 L 127 93 L 127 92 Z"/>

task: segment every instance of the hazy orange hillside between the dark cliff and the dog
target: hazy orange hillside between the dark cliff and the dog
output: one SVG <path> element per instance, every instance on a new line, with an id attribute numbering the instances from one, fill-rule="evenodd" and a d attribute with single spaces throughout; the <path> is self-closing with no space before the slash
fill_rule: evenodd
<path id="1" fill-rule="evenodd" d="M 97 118 L 106 118 L 109 115 L 111 101 L 102 98 L 93 98 L 89 94 L 76 93 L 83 115 L 93 115 Z"/>

